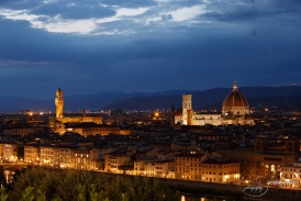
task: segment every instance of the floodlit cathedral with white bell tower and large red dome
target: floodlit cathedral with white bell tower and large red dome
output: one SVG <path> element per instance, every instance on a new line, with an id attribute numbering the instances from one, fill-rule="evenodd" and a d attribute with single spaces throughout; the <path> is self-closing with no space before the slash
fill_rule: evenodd
<path id="1" fill-rule="evenodd" d="M 232 92 L 224 99 L 222 113 L 197 113 L 192 109 L 192 94 L 182 94 L 182 112 L 175 115 L 181 125 L 253 125 L 247 99 L 234 82 Z"/>

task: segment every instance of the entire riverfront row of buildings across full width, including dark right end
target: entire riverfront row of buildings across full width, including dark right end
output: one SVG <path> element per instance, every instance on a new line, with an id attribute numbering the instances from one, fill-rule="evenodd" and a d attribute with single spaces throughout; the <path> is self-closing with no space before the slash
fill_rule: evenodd
<path id="1" fill-rule="evenodd" d="M 265 177 L 271 186 L 301 188 L 300 143 L 285 139 L 281 148 L 269 147 L 267 137 L 255 138 L 249 149 L 227 149 L 204 153 L 183 146 L 159 148 L 160 145 L 99 148 L 93 143 L 23 145 L 24 163 L 53 168 L 94 170 L 146 177 L 193 180 L 203 182 L 238 183 Z M 16 161 L 22 145 L 0 143 L 1 160 Z M 20 160 L 19 160 L 20 161 Z M 242 180 L 244 178 L 244 180 Z"/>

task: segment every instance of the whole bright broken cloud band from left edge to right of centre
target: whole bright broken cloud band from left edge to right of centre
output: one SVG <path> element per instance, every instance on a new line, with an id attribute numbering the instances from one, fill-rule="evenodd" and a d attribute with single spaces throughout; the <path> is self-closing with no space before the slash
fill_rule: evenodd
<path id="1" fill-rule="evenodd" d="M 99 35 L 136 33 L 138 26 L 144 30 L 143 26 L 149 25 L 149 21 L 185 22 L 194 20 L 205 12 L 204 5 L 198 4 L 197 1 L 192 2 L 191 7 L 186 5 L 189 1 L 176 1 L 175 5 L 169 1 L 157 1 L 164 2 L 164 5 L 156 5 L 149 0 L 145 3 L 148 7 L 137 7 L 135 1 L 111 1 L 113 2 L 116 4 L 110 4 L 108 1 L 99 3 L 96 0 L 90 0 L 91 4 L 81 1 L 45 0 L 40 4 L 34 1 L 34 7 L 29 9 L 24 1 L 20 1 L 24 9 L 4 9 L 0 11 L 0 15 L 14 21 L 27 21 L 32 27 L 51 33 Z M 123 22 L 122 29 L 121 22 Z M 118 29 L 120 31 L 115 32 Z"/>

